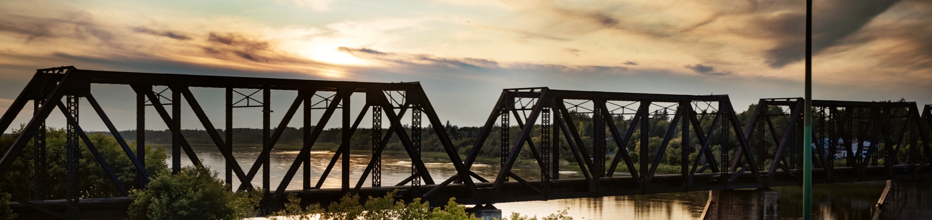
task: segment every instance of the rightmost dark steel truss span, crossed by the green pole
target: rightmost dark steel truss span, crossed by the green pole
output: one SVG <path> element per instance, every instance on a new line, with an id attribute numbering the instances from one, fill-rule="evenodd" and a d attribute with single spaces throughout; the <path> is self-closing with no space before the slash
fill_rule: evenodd
<path id="1" fill-rule="evenodd" d="M 924 112 L 923 116 L 920 115 L 918 107 L 915 102 L 866 102 L 866 101 L 837 101 L 837 100 L 813 100 L 812 101 L 814 112 L 814 125 L 817 128 L 814 131 L 814 146 L 816 149 L 813 151 L 818 154 L 813 157 L 813 164 L 816 168 L 825 169 L 823 173 L 829 182 L 838 181 L 840 176 L 835 175 L 835 165 L 834 165 L 834 156 L 829 155 L 829 153 L 834 154 L 834 149 L 836 146 L 863 146 L 866 141 L 870 141 L 870 145 L 867 146 L 867 152 L 862 152 L 861 148 L 858 148 L 857 151 L 853 151 L 852 148 L 845 147 L 847 155 L 854 155 L 854 157 L 848 157 L 848 164 L 851 167 L 857 169 L 867 169 L 871 165 L 871 158 L 875 159 L 874 156 L 878 156 L 880 153 L 879 145 L 884 144 L 884 148 L 887 152 L 883 152 L 885 155 L 884 158 L 884 175 L 894 176 L 896 172 L 893 170 L 895 165 L 898 165 L 898 155 L 896 155 L 896 150 L 904 144 L 910 144 L 913 148 L 924 149 L 924 152 L 929 152 L 928 142 L 928 130 L 929 127 L 926 125 L 928 122 L 924 120 L 925 115 L 929 115 Z M 774 113 L 771 112 L 775 107 L 788 107 L 790 111 Z M 927 107 L 927 106 L 926 106 Z M 929 111 L 929 108 L 926 108 L 925 111 Z M 828 111 L 828 112 L 826 112 Z M 783 131 L 782 136 L 777 135 L 777 131 L 774 131 L 774 116 L 776 117 L 786 117 L 789 116 L 788 125 Z M 867 117 L 867 118 L 857 118 Z M 862 121 L 861 123 L 855 125 L 854 120 L 858 119 Z M 902 124 L 891 123 L 893 119 L 902 119 Z M 767 127 L 770 131 L 769 138 L 773 139 L 773 143 L 777 146 L 777 149 L 772 154 L 773 158 L 770 158 L 771 161 L 774 161 L 770 167 L 766 167 L 768 173 L 774 173 L 776 168 L 780 168 L 783 172 L 788 174 L 793 174 L 792 167 L 788 164 L 787 157 L 783 154 L 789 149 L 795 149 L 791 146 L 792 140 L 801 139 L 802 132 L 802 98 L 762 98 L 758 103 L 758 107 L 754 110 L 754 114 L 751 116 L 750 122 L 747 125 L 747 133 L 744 134 L 745 138 L 750 139 L 754 135 L 754 129 L 761 129 Z M 865 123 L 866 122 L 866 123 Z M 762 125 L 760 123 L 765 124 Z M 760 125 L 760 126 L 759 126 Z M 897 134 L 894 132 L 898 131 Z M 854 134 L 856 133 L 857 134 Z M 816 133 L 819 133 L 816 135 Z M 910 134 L 910 141 L 902 140 L 902 137 Z M 761 136 L 763 135 L 763 136 Z M 815 136 L 821 136 L 823 138 L 816 138 Z M 762 142 L 764 139 L 767 139 L 768 136 L 764 135 L 763 130 L 759 130 L 758 137 L 761 138 Z M 858 138 L 860 137 L 860 138 Z M 821 143 L 825 140 L 828 140 L 827 143 Z M 922 145 L 918 146 L 918 140 L 923 140 Z M 841 142 L 839 142 L 841 141 Z M 762 144 L 761 142 L 761 144 Z M 909 142 L 909 143 L 906 143 Z M 798 143 L 794 143 L 798 144 Z M 826 149 L 829 147 L 829 149 Z M 762 146 L 757 146 L 757 148 L 763 148 Z M 863 147 L 862 147 L 863 148 Z M 797 151 L 790 151 L 792 153 L 798 153 Z M 862 155 L 863 153 L 863 155 Z M 919 171 L 925 167 L 925 163 L 929 161 L 930 156 L 932 155 L 916 155 L 911 151 L 910 156 L 907 156 L 907 161 L 904 163 L 910 164 L 910 167 L 906 169 L 906 173 L 899 174 L 911 174 L 917 175 Z M 920 156 L 921 160 L 912 160 L 909 159 L 911 156 Z M 794 158 L 794 160 L 800 160 L 800 158 Z M 876 166 L 877 164 L 874 164 Z M 918 165 L 918 166 L 916 166 Z M 732 164 L 732 169 L 736 166 L 736 161 Z M 854 178 L 857 180 L 864 180 L 866 176 L 864 173 L 857 173 L 855 176 L 848 176 L 848 178 Z M 801 180 L 802 176 L 800 174 L 791 175 L 794 179 Z"/>

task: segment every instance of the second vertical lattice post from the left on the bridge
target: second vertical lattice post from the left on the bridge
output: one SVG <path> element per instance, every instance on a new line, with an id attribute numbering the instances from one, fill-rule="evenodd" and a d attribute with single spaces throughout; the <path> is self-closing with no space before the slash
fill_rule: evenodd
<path id="1" fill-rule="evenodd" d="M 79 97 L 75 97 L 75 96 L 65 97 L 65 99 L 67 99 L 67 102 L 66 102 L 66 107 L 68 109 L 67 111 L 69 114 L 71 114 L 71 117 L 75 119 L 74 123 L 68 122 L 68 128 L 65 131 L 66 133 L 65 134 L 66 136 L 65 154 L 67 155 L 66 156 L 67 159 L 65 159 L 65 162 L 66 162 L 66 165 L 65 165 L 66 176 L 65 177 L 67 178 L 66 180 L 67 186 L 65 186 L 65 193 L 66 193 L 66 199 L 68 200 L 68 209 L 74 210 L 73 211 L 74 213 L 76 213 L 77 211 L 76 210 L 77 204 L 78 204 L 78 200 L 81 194 L 80 191 L 78 191 L 79 189 L 77 188 L 78 181 L 79 181 L 78 180 L 78 169 L 79 169 L 78 162 L 80 162 L 79 160 L 81 157 L 81 148 L 77 143 L 78 142 L 77 139 L 80 137 L 77 136 L 77 131 L 75 130 L 75 125 L 77 125 L 75 123 L 77 123 L 78 121 L 78 114 L 77 114 L 78 113 L 77 111 L 78 98 Z"/>

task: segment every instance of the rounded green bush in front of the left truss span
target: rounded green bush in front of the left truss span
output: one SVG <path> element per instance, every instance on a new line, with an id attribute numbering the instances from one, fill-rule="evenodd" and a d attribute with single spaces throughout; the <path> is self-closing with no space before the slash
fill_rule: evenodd
<path id="1" fill-rule="evenodd" d="M 130 193 L 130 219 L 241 219 L 254 215 L 262 190 L 232 192 L 207 168 L 185 166 Z"/>

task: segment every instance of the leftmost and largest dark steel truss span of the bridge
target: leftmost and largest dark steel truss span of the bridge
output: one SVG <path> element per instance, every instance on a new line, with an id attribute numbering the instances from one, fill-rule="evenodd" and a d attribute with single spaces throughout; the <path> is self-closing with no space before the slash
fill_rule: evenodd
<path id="1" fill-rule="evenodd" d="M 137 104 L 137 149 L 134 152 L 130 149 L 129 144 L 120 136 L 114 123 L 107 117 L 101 105 L 90 93 L 91 84 L 126 84 L 130 85 L 136 93 Z M 154 86 L 161 88 L 154 89 Z M 207 113 L 201 108 L 198 98 L 189 89 L 190 87 L 210 87 L 226 89 L 226 134 L 222 135 L 213 125 L 212 120 L 207 117 Z M 270 93 L 272 91 L 293 91 L 297 97 L 292 102 L 290 108 L 285 112 L 284 117 L 276 129 L 270 127 Z M 363 93 L 363 108 L 353 120 L 353 112 L 350 110 L 350 97 L 353 93 Z M 258 97 L 261 95 L 262 97 Z M 62 101 L 64 98 L 64 101 Z M 266 198 L 263 201 L 263 209 L 268 210 L 270 207 L 277 207 L 274 204 L 281 203 L 286 193 L 285 188 L 292 182 L 295 174 L 304 164 L 303 188 L 314 190 L 322 188 L 324 180 L 330 174 L 337 162 L 341 164 L 341 192 L 358 191 L 363 187 L 366 178 L 371 174 L 372 180 L 369 181 L 373 186 L 381 187 L 380 175 L 380 153 L 385 149 L 392 136 L 397 136 L 401 140 L 404 150 L 412 160 L 410 177 L 404 179 L 395 186 L 405 186 L 411 184 L 411 188 L 417 191 L 421 184 L 434 185 L 432 177 L 420 159 L 420 127 L 423 126 L 421 120 L 426 119 L 435 132 L 440 137 L 445 151 L 449 152 L 449 158 L 454 162 L 455 167 L 459 167 L 460 173 L 467 173 L 468 170 L 459 161 L 457 151 L 452 149 L 449 137 L 443 129 L 443 123 L 437 117 L 433 110 L 430 100 L 417 83 L 402 84 L 379 84 L 379 83 L 356 83 L 356 82 L 331 82 L 331 81 L 314 81 L 314 80 L 291 80 L 291 79 L 267 79 L 267 78 L 247 78 L 247 77 L 226 77 L 226 76 L 202 76 L 202 75 L 183 75 L 183 74 L 158 74 L 158 73 L 139 73 L 139 72 L 117 72 L 117 71 L 88 71 L 77 70 L 74 67 L 62 67 L 38 70 L 33 80 L 22 91 L 21 95 L 13 102 L 13 105 L 7 110 L 3 118 L 0 119 L 0 128 L 6 130 L 13 119 L 33 100 L 35 103 L 35 113 L 29 123 L 26 123 L 21 130 L 20 136 L 4 153 L 0 159 L 0 175 L 5 175 L 10 165 L 21 156 L 27 143 L 34 141 L 34 198 L 27 201 L 22 198 L 15 198 L 15 201 L 22 205 L 31 207 L 35 210 L 42 211 L 46 214 L 62 218 L 74 216 L 85 217 L 88 214 L 80 214 L 79 207 L 86 206 L 81 204 L 81 196 L 78 193 L 77 183 L 81 181 L 81 174 L 77 171 L 78 158 L 80 157 L 80 146 L 78 141 L 83 141 L 85 146 L 93 152 L 97 162 L 103 167 L 105 172 L 110 176 L 109 181 L 119 189 L 123 196 L 128 196 L 128 189 L 123 182 L 127 179 L 119 179 L 117 174 L 100 155 L 97 148 L 90 141 L 88 134 L 81 129 L 78 123 L 78 100 L 85 99 L 93 110 L 100 116 L 108 130 L 117 139 L 120 147 L 125 151 L 126 157 L 132 161 L 134 169 L 138 171 L 140 188 L 144 183 L 149 181 L 148 172 L 144 165 L 144 131 L 145 131 L 145 110 L 146 107 L 153 107 L 162 121 L 171 130 L 171 172 L 177 173 L 181 170 L 181 154 L 184 152 L 188 159 L 196 166 L 202 166 L 198 155 L 195 154 L 191 145 L 181 133 L 182 105 L 186 102 L 187 107 L 194 111 L 200 125 L 204 127 L 212 139 L 216 149 L 221 152 L 226 160 L 226 183 L 233 183 L 238 180 L 240 183 L 239 190 L 251 189 L 255 175 L 262 170 L 262 188 L 265 190 Z M 171 110 L 166 108 L 170 107 Z M 269 179 L 269 153 L 274 149 L 283 130 L 291 122 L 299 107 L 303 106 L 304 115 L 303 125 L 305 128 L 304 144 L 300 153 L 295 157 L 294 162 L 288 168 L 286 175 L 281 183 L 273 186 Z M 255 159 L 242 159 L 254 161 L 250 167 L 240 167 L 240 162 L 234 158 L 231 148 L 233 146 L 232 132 L 232 112 L 236 108 L 262 108 L 263 119 L 263 149 L 260 155 Z M 43 160 L 45 152 L 45 121 L 48 115 L 55 109 L 59 109 L 67 119 L 67 188 L 68 194 L 65 200 L 58 200 L 57 210 L 47 208 L 50 201 L 46 198 L 43 191 L 47 189 L 44 185 L 44 179 L 48 176 L 43 172 L 47 160 Z M 320 121 L 311 123 L 311 110 L 323 110 Z M 337 112 L 337 110 L 339 110 Z M 373 130 L 373 155 L 376 155 L 368 163 L 365 174 L 357 181 L 349 179 L 349 138 L 355 133 L 356 128 L 363 121 L 363 116 L 372 110 L 374 124 L 380 126 L 382 119 L 387 119 L 391 125 L 385 134 L 382 129 Z M 336 151 L 332 160 L 320 176 L 316 186 L 310 186 L 309 162 L 310 150 L 314 142 L 321 135 L 324 127 L 327 126 L 332 116 L 337 115 L 342 121 L 342 143 Z M 412 127 L 415 132 L 408 135 L 400 120 L 405 114 L 410 114 L 412 118 Z M 423 117 L 426 116 L 426 117 Z M 312 126 L 313 125 L 313 126 Z M 226 138 L 224 138 L 226 137 Z M 467 179 L 467 186 L 473 186 L 473 183 Z M 472 187 L 474 189 L 474 187 Z M 473 190 L 475 192 L 475 190 Z M 336 198 L 338 199 L 338 198 Z M 333 200 L 333 201 L 336 201 Z M 119 201 L 112 200 L 112 201 Z M 121 199 L 126 201 L 125 199 Z M 99 200 L 91 200 L 99 201 Z M 61 203 L 65 204 L 62 206 Z M 54 202 L 53 202 L 54 203 Z M 126 205 L 123 202 L 122 205 Z M 39 205 L 46 204 L 46 206 Z M 124 207 L 125 209 L 125 207 Z M 62 214 L 63 212 L 63 214 Z"/>

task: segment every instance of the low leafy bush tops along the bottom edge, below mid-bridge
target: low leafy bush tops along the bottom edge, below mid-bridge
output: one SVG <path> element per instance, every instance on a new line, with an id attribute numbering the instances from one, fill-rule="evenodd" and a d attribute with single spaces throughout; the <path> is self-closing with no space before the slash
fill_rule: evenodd
<path id="1" fill-rule="evenodd" d="M 350 220 L 350 219 L 397 219 L 397 220 L 479 220 L 473 214 L 466 213 L 466 206 L 450 198 L 443 207 L 431 208 L 428 201 L 421 202 L 420 198 L 411 203 L 395 201 L 398 190 L 394 190 L 384 197 L 369 197 L 365 204 L 359 203 L 359 195 L 344 195 L 339 202 L 328 206 L 329 210 L 321 208 L 320 204 L 311 204 L 302 209 L 300 199 L 295 194 L 289 195 L 285 202 L 285 209 L 271 214 L 271 220 L 310 220 L 319 217 L 320 220 Z M 537 220 L 537 215 L 528 217 L 512 213 L 511 218 L 503 220 Z M 572 220 L 567 210 L 550 214 L 541 220 Z"/>

